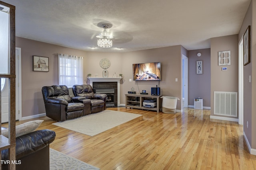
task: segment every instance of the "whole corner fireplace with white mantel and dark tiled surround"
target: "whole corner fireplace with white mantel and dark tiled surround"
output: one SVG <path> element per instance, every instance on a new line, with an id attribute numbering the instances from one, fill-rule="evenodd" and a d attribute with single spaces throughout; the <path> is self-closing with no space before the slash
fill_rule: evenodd
<path id="1" fill-rule="evenodd" d="M 96 93 L 105 93 L 108 96 L 106 107 L 120 106 L 120 80 L 112 77 L 88 77 Z M 114 97 L 114 98 L 113 98 Z"/>

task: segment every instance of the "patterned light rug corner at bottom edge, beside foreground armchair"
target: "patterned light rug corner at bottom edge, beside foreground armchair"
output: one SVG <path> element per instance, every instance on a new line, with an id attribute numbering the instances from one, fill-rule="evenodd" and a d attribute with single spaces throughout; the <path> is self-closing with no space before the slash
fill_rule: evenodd
<path id="1" fill-rule="evenodd" d="M 50 148 L 50 170 L 99 170 L 90 164 Z"/>

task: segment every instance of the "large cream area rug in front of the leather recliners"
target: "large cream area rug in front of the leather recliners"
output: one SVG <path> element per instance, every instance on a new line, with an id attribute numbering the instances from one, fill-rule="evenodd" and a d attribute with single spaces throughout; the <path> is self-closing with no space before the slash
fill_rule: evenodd
<path id="1" fill-rule="evenodd" d="M 52 124 L 85 135 L 94 136 L 140 116 L 142 115 L 122 111 L 104 110 L 76 119 Z"/>

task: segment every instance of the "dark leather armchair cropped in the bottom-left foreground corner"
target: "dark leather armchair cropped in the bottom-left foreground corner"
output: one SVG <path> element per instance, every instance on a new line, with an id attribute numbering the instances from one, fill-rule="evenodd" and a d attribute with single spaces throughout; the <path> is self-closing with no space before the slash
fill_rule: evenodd
<path id="1" fill-rule="evenodd" d="M 49 170 L 49 145 L 55 139 L 55 132 L 44 129 L 16 138 L 16 170 Z M 2 150 L 1 160 L 8 159 L 8 149 Z M 2 163 L 2 170 L 8 164 Z"/>

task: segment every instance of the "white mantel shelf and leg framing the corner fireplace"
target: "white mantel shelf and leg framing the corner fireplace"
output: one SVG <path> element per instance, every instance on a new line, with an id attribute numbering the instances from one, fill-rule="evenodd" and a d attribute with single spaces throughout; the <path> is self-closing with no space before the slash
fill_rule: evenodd
<path id="1" fill-rule="evenodd" d="M 87 77 L 90 80 L 90 85 L 93 87 L 93 82 L 117 82 L 117 106 L 120 106 L 120 80 L 122 77 Z"/>

